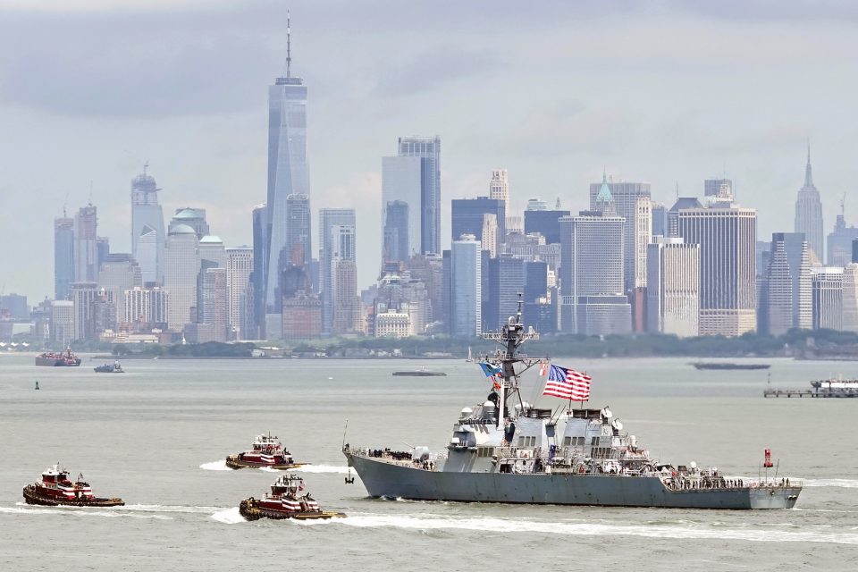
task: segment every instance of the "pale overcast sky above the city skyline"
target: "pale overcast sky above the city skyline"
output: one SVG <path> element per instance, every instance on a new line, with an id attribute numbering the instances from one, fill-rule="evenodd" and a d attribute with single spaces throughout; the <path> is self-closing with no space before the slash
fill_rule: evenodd
<path id="1" fill-rule="evenodd" d="M 99 235 L 130 251 L 130 180 L 144 161 L 167 220 L 205 207 L 228 246 L 250 244 L 286 7 L 0 0 L 0 290 L 31 304 L 53 295 L 53 219 L 90 193 Z M 765 239 L 793 230 L 807 138 L 826 233 L 844 194 L 858 221 L 858 3 L 290 7 L 311 201 L 357 208 L 360 288 L 379 266 L 381 157 L 402 135 L 442 138 L 448 243 L 450 199 L 485 194 L 496 167 L 509 169 L 514 207 L 559 197 L 572 210 L 603 167 L 670 204 L 677 184 L 701 195 L 726 169 Z"/>

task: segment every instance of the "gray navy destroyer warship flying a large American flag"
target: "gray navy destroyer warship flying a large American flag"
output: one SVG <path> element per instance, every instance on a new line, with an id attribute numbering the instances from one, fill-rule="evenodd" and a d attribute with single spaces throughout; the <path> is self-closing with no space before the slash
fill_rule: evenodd
<path id="1" fill-rule="evenodd" d="M 463 408 L 446 450 L 401 451 L 343 444 L 349 467 L 372 497 L 423 501 L 662 507 L 791 509 L 802 485 L 795 479 L 730 477 L 694 462 L 673 466 L 653 459 L 610 408 L 537 408 L 523 400 L 521 375 L 544 359 L 518 352 L 538 338 L 518 313 L 484 338 L 503 346 L 486 356 L 492 373 L 488 399 Z M 566 370 L 564 370 L 566 371 Z M 577 374 L 577 372 L 573 372 Z M 589 380 L 589 377 L 585 378 Z M 551 376 L 549 377 L 551 379 Z M 587 382 L 589 384 L 589 382 Z M 546 385 L 546 393 L 548 393 Z M 589 396 L 589 385 L 587 389 Z M 583 401 L 583 400 L 582 400 Z"/>

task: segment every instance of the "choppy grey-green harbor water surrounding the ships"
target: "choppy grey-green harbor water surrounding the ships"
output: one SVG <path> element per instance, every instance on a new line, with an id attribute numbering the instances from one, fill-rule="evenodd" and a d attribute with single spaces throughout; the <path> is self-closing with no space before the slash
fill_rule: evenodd
<path id="1" fill-rule="evenodd" d="M 128 360 L 128 373 L 105 375 L 86 357 L 64 369 L 0 356 L 0 569 L 760 570 L 858 561 L 858 400 L 765 400 L 767 372 L 699 372 L 686 359 L 555 361 L 593 374 L 592 405 L 610 405 L 662 460 L 756 476 L 771 448 L 780 475 L 804 480 L 796 509 L 380 501 L 366 498 L 359 479 L 343 483 L 346 419 L 352 444 L 438 449 L 458 411 L 485 398 L 473 364 L 430 362 L 448 376 L 408 378 L 391 372 L 419 363 Z M 772 385 L 784 387 L 858 374 L 858 363 L 772 364 Z M 312 463 L 303 474 L 323 508 L 348 518 L 240 518 L 239 501 L 261 496 L 275 475 L 232 471 L 223 458 L 269 430 Z M 127 506 L 24 505 L 21 488 L 57 461 Z"/>

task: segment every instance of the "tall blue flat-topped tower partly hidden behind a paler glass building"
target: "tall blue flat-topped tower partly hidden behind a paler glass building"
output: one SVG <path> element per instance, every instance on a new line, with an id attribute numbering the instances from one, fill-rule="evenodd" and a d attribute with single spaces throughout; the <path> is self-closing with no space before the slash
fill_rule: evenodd
<path id="1" fill-rule="evenodd" d="M 421 164 L 419 250 L 411 248 L 419 254 L 441 252 L 441 139 L 400 137 L 399 156 L 420 157 Z"/>

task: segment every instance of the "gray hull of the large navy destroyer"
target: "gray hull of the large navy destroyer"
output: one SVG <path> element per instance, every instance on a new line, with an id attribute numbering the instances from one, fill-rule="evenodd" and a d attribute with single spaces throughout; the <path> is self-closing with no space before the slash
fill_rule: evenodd
<path id="1" fill-rule="evenodd" d="M 372 497 L 418 501 L 509 502 L 668 509 L 792 509 L 801 487 L 761 486 L 674 491 L 658 477 L 507 474 L 424 470 L 346 450 Z"/>

